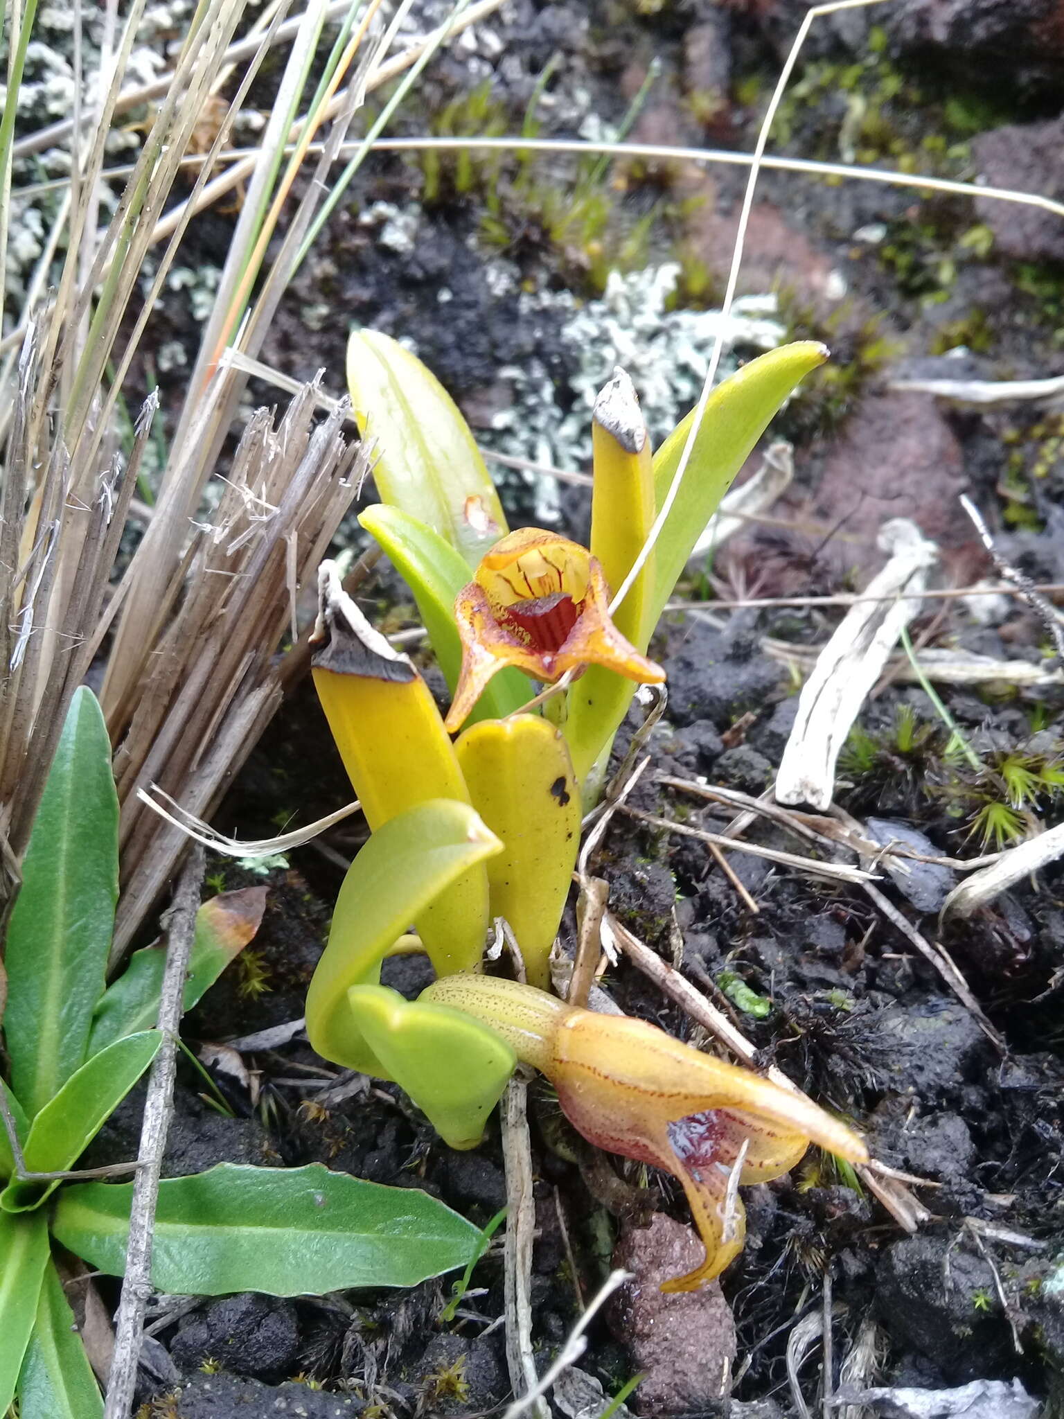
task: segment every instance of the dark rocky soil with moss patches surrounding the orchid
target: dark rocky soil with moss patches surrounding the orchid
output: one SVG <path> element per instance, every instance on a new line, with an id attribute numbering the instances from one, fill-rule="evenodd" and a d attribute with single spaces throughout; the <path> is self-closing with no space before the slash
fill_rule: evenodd
<path id="1" fill-rule="evenodd" d="M 916 165 L 953 177 L 973 177 L 986 162 L 997 180 L 1060 192 L 1064 167 L 1053 138 L 1064 123 L 1058 7 L 1012 0 L 972 9 L 970 26 L 958 18 L 968 14 L 965 6 L 948 0 L 898 0 L 827 21 L 799 62 L 780 114 L 780 146 L 838 160 L 840 143 L 850 143 L 858 162 Z M 657 55 L 663 74 L 634 136 L 749 149 L 780 45 L 802 13 L 804 4 L 792 0 L 596 0 L 586 9 L 514 0 L 504 18 L 491 21 L 498 54 L 484 45 L 472 60 L 447 60 L 430 71 L 400 128 L 423 132 L 447 102 L 488 79 L 512 132 L 552 54 L 559 60 L 545 132 L 573 131 L 580 88 L 594 112 L 617 122 Z M 1053 129 L 1027 140 L 1016 125 L 1030 122 Z M 1023 150 L 1023 165 L 1010 163 L 1010 143 Z M 366 324 L 410 336 L 475 424 L 515 397 L 499 377 L 504 366 L 536 359 L 559 400 L 572 400 L 573 353 L 559 343 L 560 316 L 546 311 L 523 319 L 518 291 L 494 294 L 485 274 L 502 253 L 536 289 L 569 289 L 580 299 L 597 294 L 590 248 L 600 238 L 552 236 L 542 214 L 542 189 L 565 187 L 573 172 L 553 159 L 532 170 L 539 186 L 518 197 L 512 167 L 477 160 L 458 190 L 454 166 L 444 163 L 433 200 L 421 201 L 428 180 L 423 165 L 376 160 L 288 292 L 264 358 L 301 377 L 325 366 L 326 383 L 339 389 L 348 331 Z M 741 180 L 726 167 L 619 166 L 604 184 L 610 230 L 631 230 L 657 211 L 640 260 L 678 258 L 680 302 L 712 305 Z M 502 207 L 501 214 L 488 211 L 497 223 L 492 244 L 485 203 L 494 190 L 502 193 Z M 1006 555 L 1040 579 L 1064 579 L 1060 416 L 1030 404 L 958 410 L 888 387 L 899 372 L 982 379 L 1055 373 L 1064 345 L 1058 219 L 1050 238 L 1044 220 L 1012 220 L 1012 209 L 989 200 L 785 173 L 765 175 L 759 192 L 745 287 L 775 288 L 790 333 L 826 339 L 836 359 L 780 421 L 780 433 L 796 443 L 797 478 L 775 509 L 789 525 L 742 534 L 688 590 L 698 599 L 706 592 L 745 599 L 863 586 L 882 562 L 875 534 L 890 517 L 911 517 L 941 542 L 939 585 L 968 585 L 987 575 L 989 563 L 958 508 L 960 490 L 987 515 Z M 416 240 L 399 248 L 382 243 L 384 219 L 366 220 L 375 201 L 413 210 Z M 224 240 L 211 223 L 201 231 L 204 261 L 211 241 Z M 830 298 L 833 272 L 846 282 L 843 298 Z M 160 339 L 192 338 L 177 298 L 166 319 L 170 328 Z M 508 488 L 515 521 L 528 519 L 528 490 Z M 559 517 L 582 535 L 582 491 L 562 495 Z M 366 595 L 377 610 L 392 609 L 393 623 L 409 610 L 387 578 Z M 976 624 L 962 600 L 925 604 L 912 627 L 916 646 L 959 646 L 1003 660 L 1043 656 L 1044 631 L 1019 604 L 989 624 Z M 760 793 L 772 782 L 796 704 L 794 684 L 762 640 L 820 644 L 840 614 L 799 607 L 675 616 L 660 640 L 670 702 L 651 739 L 654 768 Z M 843 765 L 847 786 L 838 802 L 880 841 L 904 839 L 928 856 L 976 856 L 983 850 L 977 815 L 987 799 L 1000 799 L 993 773 L 1002 759 L 1019 753 L 1051 763 L 1061 753 L 1064 694 L 1058 687 L 939 691 L 993 772 L 976 779 L 946 752 L 949 735 L 924 691 L 887 684 L 863 712 L 863 738 Z M 346 796 L 323 719 L 301 687 L 217 823 L 247 837 L 267 834 L 278 820 L 316 817 Z M 664 790 L 651 773 L 630 802 L 714 830 L 729 820 L 719 807 Z M 1047 790 L 1031 812 L 1054 824 L 1060 795 Z M 756 826 L 748 837 L 793 846 Z M 186 1022 L 190 1043 L 301 1017 L 340 881 L 335 854 L 349 858 L 360 839 L 360 829 L 345 823 L 326 837 L 328 856 L 311 846 L 291 856 L 289 868 L 270 874 L 267 917 L 250 948 L 254 971 L 247 959 L 230 969 Z M 931 1216 L 907 1235 L 854 1186 L 853 1175 L 813 1154 L 789 1178 L 749 1191 L 748 1244 L 722 1279 L 724 1300 L 714 1301 L 712 1325 L 729 1334 L 732 1321 L 719 1313 L 731 1310 L 731 1340 L 699 1330 L 709 1323 L 697 1307 L 689 1314 L 665 1310 L 657 1324 L 675 1328 L 675 1345 L 650 1355 L 640 1331 L 645 1317 L 636 1323 L 633 1308 L 619 1305 L 611 1320 L 593 1327 L 580 1368 L 609 1395 L 651 1366 L 644 1395 L 653 1399 L 640 1401 L 637 1391 L 631 1405 L 661 1419 L 714 1415 L 724 1412 L 719 1365 L 706 1349 L 705 1366 L 692 1369 L 689 1351 L 699 1342 L 716 1345 L 718 1354 L 731 1345 L 733 1413 L 790 1416 L 787 1337 L 820 1305 L 830 1271 L 837 1365 L 863 1327 L 867 1344 L 871 1324 L 870 1384 L 942 1388 L 1019 1378 L 1033 1395 L 1060 1403 L 1061 1287 L 1044 1283 L 1064 1246 L 1064 870 L 1046 870 L 1037 884 L 1019 885 L 942 937 L 1007 1042 L 1002 1057 L 860 888 L 833 887 L 756 857 L 735 856 L 732 866 L 756 900 L 756 915 L 701 844 L 645 830 L 623 815 L 593 870 L 610 881 L 611 905 L 641 939 L 670 959 L 678 958 L 682 939 L 684 972 L 728 1006 L 765 1061 L 775 1060 L 867 1130 L 884 1162 L 935 1185 L 919 1193 Z M 211 873 L 226 887 L 251 880 L 231 863 L 217 863 Z M 928 867 L 908 878 L 884 877 L 881 890 L 939 939 L 938 911 L 956 880 L 951 868 Z M 426 983 L 417 965 L 392 969 L 393 983 L 409 995 Z M 719 985 L 725 971 L 767 1010 L 746 1013 L 729 1002 Z M 691 1036 L 689 1020 L 628 966 L 611 972 L 609 986 L 628 1013 Z M 326 1077 L 323 1061 L 299 1037 L 245 1053 L 244 1061 L 257 1071 L 254 1105 L 244 1086 L 216 1076 L 234 1117 L 217 1112 L 203 1080 L 183 1067 L 172 1174 L 221 1159 L 278 1166 L 322 1161 L 376 1182 L 424 1188 L 477 1223 L 502 1206 L 494 1125 L 481 1148 L 454 1154 L 392 1084 L 319 1104 L 322 1083 L 332 1086 L 336 1071 L 329 1067 Z M 96 1145 L 101 1159 L 131 1155 L 136 1114 L 133 1098 Z M 545 1365 L 573 1324 L 576 1294 L 590 1296 L 607 1273 L 617 1239 L 619 1254 L 645 1254 L 650 1233 L 638 1226 L 650 1213 L 685 1226 L 688 1219 L 671 1179 L 645 1178 L 575 1148 L 545 1093 L 535 1095 L 533 1114 L 539 1235 L 532 1301 Z M 631 1186 L 619 1188 L 619 1179 Z M 641 1209 L 631 1206 L 636 1188 Z M 509 1393 L 495 1324 L 502 1311 L 499 1254 L 492 1250 L 478 1266 L 461 1318 L 443 1325 L 448 1287 L 445 1279 L 409 1294 L 204 1301 L 160 1331 L 179 1379 L 172 1396 L 156 1398 L 145 1413 L 410 1419 L 498 1412 Z M 807 1396 L 813 1388 L 807 1378 Z"/>

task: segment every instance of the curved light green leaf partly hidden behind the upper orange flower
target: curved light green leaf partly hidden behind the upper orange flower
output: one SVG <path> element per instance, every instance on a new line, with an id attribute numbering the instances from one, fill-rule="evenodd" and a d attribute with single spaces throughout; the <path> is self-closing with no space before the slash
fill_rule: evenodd
<path id="1" fill-rule="evenodd" d="M 410 587 L 440 670 L 454 694 L 462 660 L 454 622 L 454 599 L 470 582 L 468 563 L 438 532 L 403 508 L 377 502 L 366 508 L 359 522 Z M 528 704 L 535 690 L 521 671 L 508 667 L 487 687 L 467 722 L 502 719 Z"/>

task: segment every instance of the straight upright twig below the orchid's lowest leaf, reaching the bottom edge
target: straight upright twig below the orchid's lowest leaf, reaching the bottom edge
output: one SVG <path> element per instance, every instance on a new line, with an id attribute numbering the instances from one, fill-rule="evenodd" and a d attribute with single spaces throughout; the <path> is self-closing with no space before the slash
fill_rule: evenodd
<path id="1" fill-rule="evenodd" d="M 502 1161 L 506 1171 L 506 1236 L 502 1249 L 505 1267 L 506 1368 L 515 1395 L 522 1395 L 506 1410 L 535 1419 L 550 1419 L 549 1406 L 539 1398 L 542 1382 L 532 1355 L 532 1239 L 536 1205 L 532 1196 L 532 1145 L 528 1137 L 528 1084 L 514 1077 L 502 1095 Z"/>

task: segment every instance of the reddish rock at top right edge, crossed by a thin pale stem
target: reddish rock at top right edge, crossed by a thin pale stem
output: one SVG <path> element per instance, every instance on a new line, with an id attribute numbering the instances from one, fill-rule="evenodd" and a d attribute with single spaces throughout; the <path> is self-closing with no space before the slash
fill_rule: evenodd
<path id="1" fill-rule="evenodd" d="M 1064 118 L 1010 123 L 972 143 L 980 176 L 994 187 L 1064 199 Z M 994 234 L 994 250 L 1020 261 L 1064 261 L 1064 221 L 1055 211 L 976 197 L 976 211 Z"/>

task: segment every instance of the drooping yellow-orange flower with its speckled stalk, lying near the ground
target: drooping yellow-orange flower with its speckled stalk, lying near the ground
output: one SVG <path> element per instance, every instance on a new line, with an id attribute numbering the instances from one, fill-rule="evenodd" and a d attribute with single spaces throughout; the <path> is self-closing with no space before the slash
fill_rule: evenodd
<path id="1" fill-rule="evenodd" d="M 512 981 L 454 975 L 423 999 L 482 1019 L 548 1076 L 569 1121 L 599 1148 L 671 1172 L 684 1188 L 705 1261 L 665 1291 L 692 1291 L 742 1250 L 738 1185 L 779 1178 L 810 1142 L 867 1162 L 844 1124 L 804 1094 L 702 1054 L 643 1020 L 565 1005 Z M 739 1174 L 735 1176 L 735 1168 Z"/>

